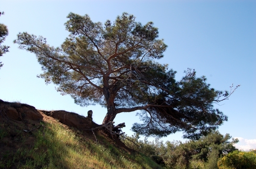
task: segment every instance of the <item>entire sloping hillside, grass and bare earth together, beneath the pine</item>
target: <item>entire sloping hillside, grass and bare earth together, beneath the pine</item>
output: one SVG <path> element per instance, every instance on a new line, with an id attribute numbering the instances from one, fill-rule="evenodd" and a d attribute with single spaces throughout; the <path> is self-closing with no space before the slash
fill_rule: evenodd
<path id="1" fill-rule="evenodd" d="M 22 105 L 15 104 L 0 104 L 2 169 L 161 169 L 103 130 L 95 131 L 96 143 L 89 130 L 66 126 L 41 111 L 41 120 L 28 119 Z M 16 119 L 11 118 L 14 109 Z"/>

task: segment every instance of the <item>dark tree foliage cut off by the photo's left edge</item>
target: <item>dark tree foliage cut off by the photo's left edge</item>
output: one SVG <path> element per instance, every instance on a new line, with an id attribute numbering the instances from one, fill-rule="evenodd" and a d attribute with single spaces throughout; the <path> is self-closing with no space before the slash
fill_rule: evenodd
<path id="1" fill-rule="evenodd" d="M 0 11 L 0 16 L 4 14 L 4 12 Z M 8 48 L 9 46 L 1 46 L 1 43 L 5 40 L 6 36 L 8 35 L 8 29 L 7 26 L 3 23 L 0 23 L 0 57 L 3 56 L 4 53 L 9 52 Z M 0 68 L 3 66 L 2 62 L 0 62 Z"/>

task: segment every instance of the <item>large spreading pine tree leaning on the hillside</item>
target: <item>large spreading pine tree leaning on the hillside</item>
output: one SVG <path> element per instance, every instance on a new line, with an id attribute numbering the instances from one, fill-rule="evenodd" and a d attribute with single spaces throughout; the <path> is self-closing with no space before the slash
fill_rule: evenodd
<path id="1" fill-rule="evenodd" d="M 227 120 L 213 103 L 231 93 L 210 88 L 206 78 L 197 78 L 191 69 L 176 81 L 175 71 L 155 61 L 167 46 L 157 39 L 152 22 L 143 26 L 127 13 L 104 25 L 93 23 L 88 15 L 70 13 L 67 18 L 70 35 L 61 47 L 26 32 L 14 42 L 36 54 L 44 71 L 39 77 L 57 84 L 61 94 L 71 95 L 81 106 L 106 107 L 103 123 L 119 113 L 140 110 L 143 124 L 135 123 L 134 132 L 166 136 L 183 131 L 184 137 L 197 139 Z"/>

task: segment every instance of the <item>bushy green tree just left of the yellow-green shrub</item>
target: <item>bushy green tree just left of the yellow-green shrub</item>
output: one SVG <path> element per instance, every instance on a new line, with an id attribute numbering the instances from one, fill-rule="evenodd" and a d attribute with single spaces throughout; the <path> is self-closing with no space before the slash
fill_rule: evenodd
<path id="1" fill-rule="evenodd" d="M 237 150 L 233 145 L 239 140 L 229 141 L 230 139 L 229 134 L 221 135 L 218 131 L 214 131 L 199 140 L 189 140 L 186 143 L 166 142 L 167 152 L 163 155 L 163 159 L 171 168 L 205 165 L 203 168 L 214 169 L 217 167 L 218 158 Z"/>

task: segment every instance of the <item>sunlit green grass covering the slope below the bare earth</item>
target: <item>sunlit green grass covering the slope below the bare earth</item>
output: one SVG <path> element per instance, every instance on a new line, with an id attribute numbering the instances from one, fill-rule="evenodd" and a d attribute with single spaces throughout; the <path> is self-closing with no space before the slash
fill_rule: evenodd
<path id="1" fill-rule="evenodd" d="M 125 152 L 104 141 L 103 144 L 78 137 L 71 129 L 60 123 L 44 123 L 34 132 L 36 137 L 32 149 L 20 148 L 16 153 L 8 152 L 0 161 L 0 168 L 15 166 L 18 169 L 161 169 L 150 158 L 141 153 Z M 1 131 L 0 135 L 6 135 Z"/>

